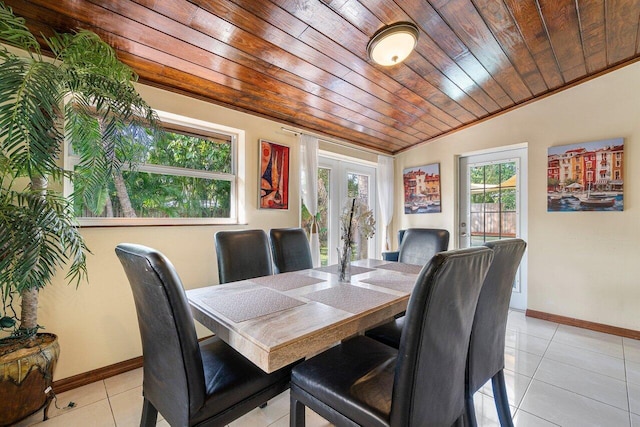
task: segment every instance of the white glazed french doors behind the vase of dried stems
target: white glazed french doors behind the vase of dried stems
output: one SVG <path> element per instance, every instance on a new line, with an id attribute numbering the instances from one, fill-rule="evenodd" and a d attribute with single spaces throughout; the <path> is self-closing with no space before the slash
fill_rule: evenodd
<path id="1" fill-rule="evenodd" d="M 320 156 L 318 158 L 318 223 L 321 265 L 338 262 L 340 214 L 349 198 L 356 197 L 376 212 L 374 167 Z M 371 239 L 356 235 L 352 260 L 376 256 L 377 234 Z"/>

